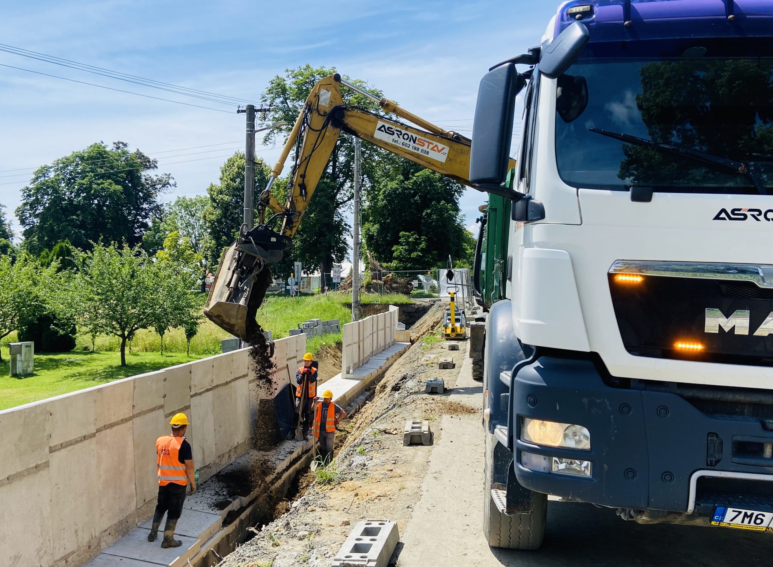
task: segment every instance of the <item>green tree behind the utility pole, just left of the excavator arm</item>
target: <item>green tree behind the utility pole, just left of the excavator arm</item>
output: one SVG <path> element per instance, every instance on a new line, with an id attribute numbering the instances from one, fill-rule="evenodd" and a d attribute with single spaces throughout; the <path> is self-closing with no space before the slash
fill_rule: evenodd
<path id="1" fill-rule="evenodd" d="M 261 159 L 255 160 L 255 188 L 258 195 L 264 190 L 271 168 Z M 206 188 L 209 203 L 202 217 L 209 236 L 201 242 L 203 257 L 210 266 L 220 262 L 223 249 L 237 236 L 244 210 L 244 153 L 237 151 L 220 167 L 220 182 Z"/>

